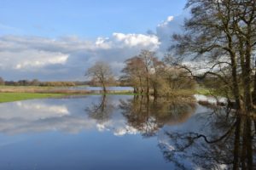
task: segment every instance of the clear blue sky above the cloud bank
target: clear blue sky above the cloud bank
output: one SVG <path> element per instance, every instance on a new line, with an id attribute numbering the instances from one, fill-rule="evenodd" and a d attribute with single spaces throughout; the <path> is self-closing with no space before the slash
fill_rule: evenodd
<path id="1" fill-rule="evenodd" d="M 181 14 L 184 0 L 1 0 L 3 34 L 60 37 L 144 33 L 167 16 Z M 13 28 L 13 29 L 8 29 Z"/>

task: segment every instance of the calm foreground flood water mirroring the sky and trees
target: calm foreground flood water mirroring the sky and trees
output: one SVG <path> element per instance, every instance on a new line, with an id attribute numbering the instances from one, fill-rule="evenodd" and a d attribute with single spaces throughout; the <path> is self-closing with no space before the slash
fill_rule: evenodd
<path id="1" fill-rule="evenodd" d="M 88 95 L 0 104 L 0 169 L 249 169 L 253 120 L 191 101 Z"/>

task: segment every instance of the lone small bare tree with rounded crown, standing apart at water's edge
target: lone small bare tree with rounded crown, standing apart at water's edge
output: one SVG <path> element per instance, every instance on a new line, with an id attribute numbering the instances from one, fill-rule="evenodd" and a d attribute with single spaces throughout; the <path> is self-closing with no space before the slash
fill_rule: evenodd
<path id="1" fill-rule="evenodd" d="M 91 81 L 99 82 L 102 85 L 103 92 L 107 92 L 107 86 L 113 82 L 113 73 L 110 66 L 102 61 L 96 62 L 85 73 L 85 76 L 90 77 Z"/>

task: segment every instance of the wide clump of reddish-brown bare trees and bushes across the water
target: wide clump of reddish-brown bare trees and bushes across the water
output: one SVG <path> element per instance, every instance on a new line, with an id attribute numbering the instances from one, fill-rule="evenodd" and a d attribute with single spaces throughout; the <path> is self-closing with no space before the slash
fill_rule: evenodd
<path id="1" fill-rule="evenodd" d="M 138 94 L 154 94 L 154 96 L 170 95 L 177 89 L 190 89 L 195 82 L 187 77 L 187 72 L 166 65 L 148 50 L 127 59 L 122 71 L 122 81 L 130 82 Z"/>

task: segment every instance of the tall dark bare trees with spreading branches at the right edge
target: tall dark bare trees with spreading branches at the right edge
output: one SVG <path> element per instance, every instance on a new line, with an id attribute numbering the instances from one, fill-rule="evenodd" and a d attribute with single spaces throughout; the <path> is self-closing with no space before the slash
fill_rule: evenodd
<path id="1" fill-rule="evenodd" d="M 255 112 L 256 1 L 189 0 L 187 8 L 191 10 L 191 18 L 185 21 L 184 33 L 173 36 L 177 43 L 171 50 L 180 58 L 172 64 L 199 78 L 193 72 L 195 68 L 183 65 L 182 61 L 204 60 L 207 71 L 200 78 L 218 78 L 223 85 L 218 88 L 230 91 L 231 96 L 227 97 L 236 99 L 239 111 Z"/>

